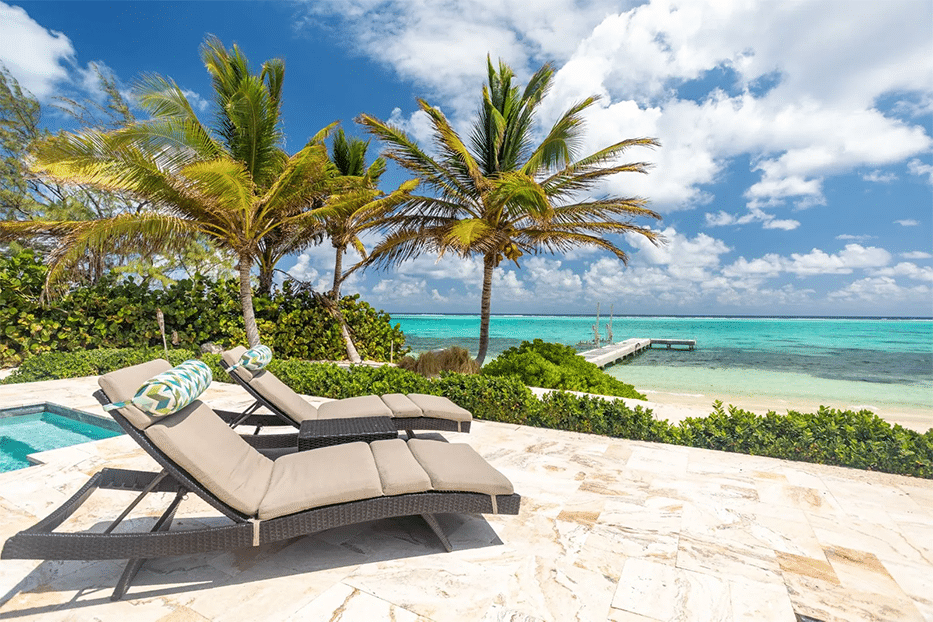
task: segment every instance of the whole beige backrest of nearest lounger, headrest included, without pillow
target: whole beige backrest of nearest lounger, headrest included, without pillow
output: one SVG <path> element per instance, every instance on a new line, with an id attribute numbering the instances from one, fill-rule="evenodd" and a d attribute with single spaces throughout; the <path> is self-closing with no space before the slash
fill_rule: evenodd
<path id="1" fill-rule="evenodd" d="M 167 361 L 157 359 L 110 372 L 98 383 L 117 402 L 131 398 L 146 380 L 170 368 Z M 132 405 L 118 412 L 218 499 L 246 515 L 256 514 L 272 479 L 272 461 L 209 406 L 195 400 L 164 417 L 147 415 Z"/>

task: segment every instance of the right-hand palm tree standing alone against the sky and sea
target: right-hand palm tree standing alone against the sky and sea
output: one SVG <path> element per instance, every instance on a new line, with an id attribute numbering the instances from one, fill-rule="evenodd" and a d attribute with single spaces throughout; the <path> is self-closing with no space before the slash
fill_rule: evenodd
<path id="1" fill-rule="evenodd" d="M 383 267 L 422 252 L 483 258 L 479 352 L 482 365 L 489 346 L 489 311 L 493 270 L 503 260 L 518 265 L 526 253 L 564 252 L 595 246 L 622 261 L 625 252 L 606 234 L 636 233 L 657 243 L 650 228 L 635 217 L 660 218 L 638 197 L 591 198 L 585 193 L 609 175 L 646 173 L 645 162 L 618 164 L 631 147 L 654 147 L 653 138 L 614 143 L 583 158 L 575 146 L 582 136 L 582 113 L 597 99 L 588 97 L 568 109 L 544 140 L 533 146 L 535 110 L 547 93 L 554 70 L 545 64 L 523 92 L 512 86 L 512 70 L 487 58 L 489 82 L 473 124 L 470 147 L 444 114 L 423 99 L 437 156 L 431 156 L 403 131 L 372 117 L 357 121 L 386 145 L 384 154 L 418 175 L 436 196 L 414 196 L 391 220 L 393 230 L 371 253 Z"/>

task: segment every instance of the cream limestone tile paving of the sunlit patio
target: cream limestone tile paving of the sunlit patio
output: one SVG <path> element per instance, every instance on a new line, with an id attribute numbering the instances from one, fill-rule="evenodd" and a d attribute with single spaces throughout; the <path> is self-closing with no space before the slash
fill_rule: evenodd
<path id="1" fill-rule="evenodd" d="M 95 378 L 0 386 L 0 408 L 102 413 Z M 245 407 L 214 383 L 204 397 Z M 309 398 L 322 401 L 321 398 Z M 933 622 L 933 482 L 854 469 L 476 422 L 465 442 L 509 477 L 519 516 L 419 517 L 147 562 L 123 601 L 115 561 L 0 561 L 0 619 Z M 104 466 L 155 469 L 126 437 L 0 474 L 0 538 Z M 100 531 L 128 502 L 98 491 L 63 528 Z M 127 529 L 168 502 L 152 495 Z M 196 498 L 173 529 L 222 524 Z M 121 527 L 122 528 L 122 527 Z"/>

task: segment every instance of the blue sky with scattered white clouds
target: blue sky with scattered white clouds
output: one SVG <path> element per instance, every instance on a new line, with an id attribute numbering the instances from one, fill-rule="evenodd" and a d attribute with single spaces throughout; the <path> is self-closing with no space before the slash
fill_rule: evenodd
<path id="1" fill-rule="evenodd" d="M 468 131 L 487 53 L 523 80 L 557 68 L 541 128 L 590 110 L 582 148 L 653 136 L 641 195 L 664 219 L 655 248 L 524 257 L 495 275 L 494 313 L 933 315 L 933 3 L 629 3 L 537 0 L 319 2 L 0 1 L 0 61 L 43 103 L 99 96 L 90 65 L 127 91 L 173 78 L 209 119 L 206 34 L 258 66 L 286 60 L 286 147 L 366 112 L 426 143 L 416 97 Z M 49 109 L 45 122 L 62 120 Z M 540 129 L 543 132 L 543 129 Z M 378 148 L 378 145 L 374 144 Z M 403 179 L 397 170 L 386 186 Z M 372 240 L 370 240 L 372 242 Z M 352 259 L 352 258 L 351 258 Z M 329 283 L 329 244 L 285 260 Z M 392 312 L 478 312 L 477 260 L 423 256 L 354 276 Z"/>

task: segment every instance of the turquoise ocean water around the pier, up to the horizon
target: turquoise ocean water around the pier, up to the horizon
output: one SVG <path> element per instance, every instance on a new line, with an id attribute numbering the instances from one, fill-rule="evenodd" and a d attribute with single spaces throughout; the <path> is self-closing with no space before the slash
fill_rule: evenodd
<path id="1" fill-rule="evenodd" d="M 493 316 L 487 360 L 540 338 L 586 350 L 595 316 Z M 478 315 L 393 315 L 415 352 L 459 345 L 475 355 Z M 607 317 L 600 334 L 607 336 Z M 649 350 L 609 373 L 639 389 L 756 395 L 933 410 L 933 320 L 616 317 L 613 341 L 696 339 L 694 351 Z"/>

